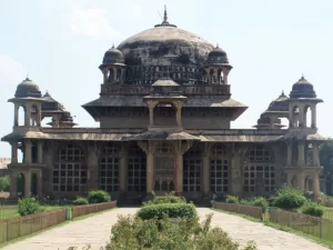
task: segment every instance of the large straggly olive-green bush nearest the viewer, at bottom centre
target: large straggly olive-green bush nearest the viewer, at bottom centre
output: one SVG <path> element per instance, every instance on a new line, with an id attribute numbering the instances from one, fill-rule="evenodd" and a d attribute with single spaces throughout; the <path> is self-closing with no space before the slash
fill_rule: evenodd
<path id="1" fill-rule="evenodd" d="M 228 233 L 220 228 L 211 228 L 212 214 L 200 224 L 198 218 L 180 219 L 178 223 L 169 219 L 141 220 L 120 216 L 111 229 L 110 243 L 105 250 L 239 250 Z M 249 242 L 244 250 L 255 250 Z"/>

